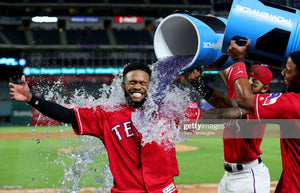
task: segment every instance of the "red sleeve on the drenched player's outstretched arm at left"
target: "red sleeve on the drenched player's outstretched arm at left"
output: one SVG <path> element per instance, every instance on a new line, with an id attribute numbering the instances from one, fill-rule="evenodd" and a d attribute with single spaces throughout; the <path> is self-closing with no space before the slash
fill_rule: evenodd
<path id="1" fill-rule="evenodd" d="M 90 135 L 103 140 L 103 124 L 106 113 L 97 107 L 74 109 L 78 128 L 73 129 L 77 135 Z"/>

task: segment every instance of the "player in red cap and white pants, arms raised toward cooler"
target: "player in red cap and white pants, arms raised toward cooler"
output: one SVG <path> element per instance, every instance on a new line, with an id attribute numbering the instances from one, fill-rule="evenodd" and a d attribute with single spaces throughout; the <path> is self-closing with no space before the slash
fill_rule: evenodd
<path id="1" fill-rule="evenodd" d="M 234 100 L 235 93 L 233 85 L 229 81 L 232 78 L 232 68 L 220 71 L 222 77 L 225 77 L 225 83 L 228 88 L 227 98 L 223 93 L 212 89 L 204 84 L 201 77 L 203 68 L 193 69 L 184 75 L 189 81 L 193 81 L 194 86 L 200 92 L 202 97 L 211 105 L 218 108 L 237 107 Z M 248 71 L 248 81 L 251 84 L 253 93 L 264 93 L 269 91 L 269 84 L 273 78 L 271 71 L 261 65 L 253 65 Z M 219 110 L 222 112 L 222 110 Z M 202 112 L 203 115 L 208 111 Z M 231 112 L 228 111 L 228 114 Z M 242 113 L 242 118 L 244 113 Z M 230 115 L 231 116 L 231 115 Z M 225 118 L 230 118 L 230 116 Z M 232 114 L 233 116 L 233 114 Z M 207 117 L 206 117 L 207 118 Z M 209 117 L 212 118 L 212 117 Z M 236 117 L 231 117 L 236 118 Z M 246 118 L 254 119 L 254 116 L 247 114 Z M 244 124 L 243 124 L 244 123 Z M 223 131 L 224 147 L 224 168 L 225 174 L 220 182 L 218 192 L 270 192 L 270 175 L 268 168 L 262 163 L 260 155 L 260 144 L 266 124 L 247 124 L 245 121 L 231 121 L 225 124 Z M 255 130 L 254 130 L 255 128 Z"/>

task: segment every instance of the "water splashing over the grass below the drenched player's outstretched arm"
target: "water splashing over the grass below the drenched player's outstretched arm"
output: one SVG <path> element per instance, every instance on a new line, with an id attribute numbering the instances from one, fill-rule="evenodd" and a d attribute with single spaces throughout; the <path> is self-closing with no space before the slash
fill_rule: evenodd
<path id="1" fill-rule="evenodd" d="M 92 136 L 78 136 L 72 143 L 76 148 L 59 153 L 59 158 L 53 162 L 63 166 L 62 192 L 80 192 L 93 179 L 99 185 L 93 192 L 108 192 L 113 184 L 105 147 Z M 68 160 L 71 161 L 69 165 Z"/>

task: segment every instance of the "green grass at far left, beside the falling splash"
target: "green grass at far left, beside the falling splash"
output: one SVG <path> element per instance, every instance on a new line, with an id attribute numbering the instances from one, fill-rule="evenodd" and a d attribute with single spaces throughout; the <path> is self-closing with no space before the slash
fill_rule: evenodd
<path id="1" fill-rule="evenodd" d="M 57 184 L 63 170 L 48 161 L 57 158 L 56 148 L 60 146 L 58 139 L 41 140 L 40 144 L 30 139 L 0 140 L 1 185 L 37 188 Z"/>

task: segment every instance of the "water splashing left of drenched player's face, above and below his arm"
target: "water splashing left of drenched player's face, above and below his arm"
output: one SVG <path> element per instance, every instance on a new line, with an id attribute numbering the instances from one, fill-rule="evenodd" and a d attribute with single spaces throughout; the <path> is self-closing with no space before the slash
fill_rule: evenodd
<path id="1" fill-rule="evenodd" d="M 70 102 L 73 108 L 79 107 L 92 107 L 96 109 L 97 106 L 102 106 L 106 111 L 119 110 L 120 104 L 125 103 L 124 93 L 122 91 L 122 77 L 116 76 L 110 86 L 103 85 L 102 89 L 99 89 L 100 98 L 95 99 L 93 96 L 87 95 L 85 90 L 76 89 Z M 107 163 L 107 154 L 104 145 L 99 147 L 102 142 L 92 136 L 78 136 L 77 142 L 80 142 L 77 146 L 77 150 L 72 150 L 68 153 L 61 154 L 60 157 L 69 158 L 72 163 L 67 165 L 64 159 L 56 160 L 56 163 L 63 166 L 65 175 L 61 180 L 63 192 L 79 192 L 90 181 L 88 178 L 84 178 L 85 175 L 94 176 L 95 183 L 99 185 L 93 192 L 109 192 L 113 186 L 113 177 Z M 75 141 L 75 144 L 76 144 Z M 95 160 L 101 160 L 100 164 Z M 103 165 L 101 168 L 100 165 Z M 92 168 L 92 169 L 91 169 Z M 83 185 L 80 185 L 82 184 Z"/>

